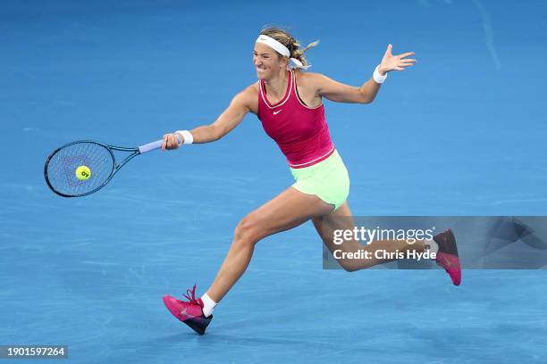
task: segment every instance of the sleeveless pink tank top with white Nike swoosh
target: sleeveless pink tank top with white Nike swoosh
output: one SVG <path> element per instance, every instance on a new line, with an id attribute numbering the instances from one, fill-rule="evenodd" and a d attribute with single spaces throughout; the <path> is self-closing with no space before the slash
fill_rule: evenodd
<path id="1" fill-rule="evenodd" d="M 258 86 L 258 119 L 266 134 L 285 154 L 290 168 L 312 166 L 334 152 L 323 103 L 312 108 L 300 101 L 292 70 L 287 91 L 279 103 L 268 102 L 261 79 Z"/>

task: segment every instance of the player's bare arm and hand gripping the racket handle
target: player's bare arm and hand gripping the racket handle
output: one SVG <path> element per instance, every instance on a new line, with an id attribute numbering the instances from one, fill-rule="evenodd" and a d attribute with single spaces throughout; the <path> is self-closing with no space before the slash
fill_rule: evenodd
<path id="1" fill-rule="evenodd" d="M 194 144 L 210 143 L 219 140 L 237 127 L 248 112 L 255 112 L 257 89 L 254 85 L 247 87 L 231 100 L 230 105 L 220 116 L 209 125 L 202 125 L 190 130 Z M 180 133 L 164 135 L 162 149 L 177 149 L 184 142 Z"/>

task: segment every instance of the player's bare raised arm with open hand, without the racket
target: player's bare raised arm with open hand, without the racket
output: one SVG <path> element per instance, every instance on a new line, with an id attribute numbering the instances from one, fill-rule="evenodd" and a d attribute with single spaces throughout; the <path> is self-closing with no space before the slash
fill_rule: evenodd
<path id="1" fill-rule="evenodd" d="M 416 62 L 415 59 L 407 58 L 414 55 L 414 52 L 393 55 L 391 49 L 392 45 L 388 45 L 382 62 L 378 65 L 381 76 L 391 70 L 405 70 Z M 373 78 L 368 79 L 361 87 L 345 85 L 318 73 L 314 74 L 313 79 L 316 94 L 336 103 L 372 103 L 381 86 Z"/>

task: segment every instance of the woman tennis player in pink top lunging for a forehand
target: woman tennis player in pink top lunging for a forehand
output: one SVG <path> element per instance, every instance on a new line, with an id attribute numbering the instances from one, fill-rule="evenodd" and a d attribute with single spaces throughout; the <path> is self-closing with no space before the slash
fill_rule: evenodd
<path id="1" fill-rule="evenodd" d="M 284 30 L 263 29 L 254 47 L 257 82 L 235 95 L 230 106 L 212 124 L 164 135 L 163 149 L 214 142 L 230 133 L 248 112 L 252 112 L 262 122 L 266 134 L 279 145 L 295 179 L 292 186 L 240 220 L 230 250 L 206 294 L 196 299 L 194 285 L 184 295 L 188 301 L 164 296 L 167 309 L 200 335 L 211 322 L 216 304 L 247 269 L 255 244 L 265 236 L 297 227 L 310 219 L 331 252 L 340 249 L 343 252 L 427 250 L 436 254 L 437 263 L 447 270 L 453 284 L 459 285 L 459 256 L 450 230 L 433 236 L 433 240 L 415 244 L 404 240 L 382 240 L 367 245 L 353 240 L 341 245 L 333 243 L 334 230 L 353 229 L 353 220 L 336 219 L 351 217 L 346 202 L 349 177 L 332 144 L 322 99 L 337 103 L 371 103 L 388 72 L 405 70 L 416 60 L 408 58 L 414 54 L 412 52 L 391 54 L 392 47 L 388 45 L 373 77 L 361 87 L 350 87 L 322 74 L 304 71 L 308 67 L 304 53 L 315 45 L 317 42 L 300 49 L 297 40 Z M 343 269 L 354 271 L 393 259 L 337 261 Z"/>

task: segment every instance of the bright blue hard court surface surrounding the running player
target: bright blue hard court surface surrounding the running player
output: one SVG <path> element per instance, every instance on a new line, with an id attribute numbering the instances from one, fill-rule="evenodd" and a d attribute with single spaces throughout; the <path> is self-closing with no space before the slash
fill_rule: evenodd
<path id="1" fill-rule="evenodd" d="M 419 0 L 0 4 L 0 345 L 70 362 L 542 363 L 543 269 L 322 269 L 311 223 L 267 237 L 198 336 L 164 294 L 211 284 L 233 228 L 293 182 L 249 115 L 221 141 L 131 161 L 97 194 L 44 181 L 56 147 L 138 146 L 210 123 L 288 26 L 350 85 L 416 52 L 374 103 L 325 101 L 356 216 L 547 215 L 547 4 Z M 544 268 L 544 267 L 543 267 Z M 52 361 L 53 362 L 53 361 Z"/>

